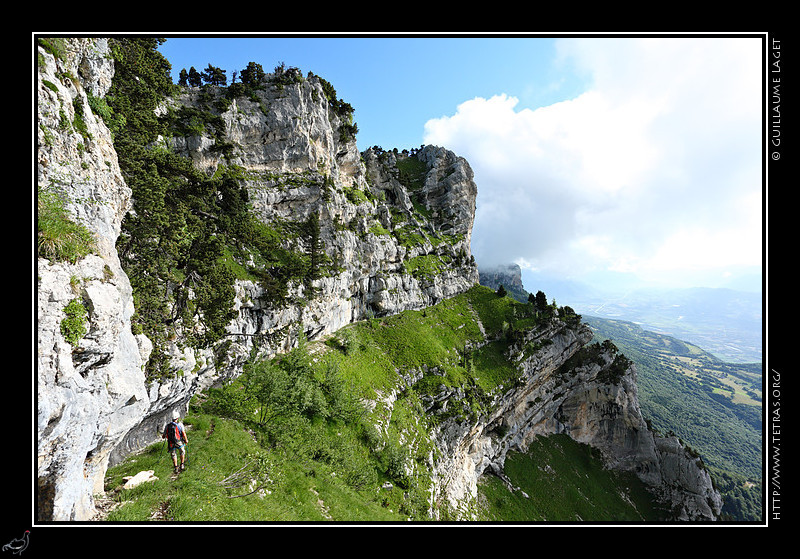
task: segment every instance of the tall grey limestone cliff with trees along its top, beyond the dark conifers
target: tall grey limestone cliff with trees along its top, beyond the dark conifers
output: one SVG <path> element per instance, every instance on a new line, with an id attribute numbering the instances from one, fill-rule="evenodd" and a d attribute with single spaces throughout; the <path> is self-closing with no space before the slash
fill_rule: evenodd
<path id="1" fill-rule="evenodd" d="M 189 88 L 170 105 L 213 103 L 208 91 L 201 99 Z M 477 187 L 463 158 L 426 146 L 414 157 L 418 183 L 404 184 L 398 160 L 409 156 L 370 149 L 362 158 L 314 76 L 236 98 L 219 116 L 232 146 L 225 156 L 208 135 L 173 138 L 173 149 L 208 174 L 219 165 L 244 169 L 253 211 L 265 223 L 318 215 L 335 270 L 314 282 L 313 296 L 292 286 L 289 299 L 302 304 L 281 309 L 259 303 L 255 283 L 238 282 L 234 351 L 244 354 L 259 335 L 272 341 L 267 353 L 281 351 L 300 331 L 313 338 L 368 315 L 435 304 L 477 283 L 470 257 Z"/>

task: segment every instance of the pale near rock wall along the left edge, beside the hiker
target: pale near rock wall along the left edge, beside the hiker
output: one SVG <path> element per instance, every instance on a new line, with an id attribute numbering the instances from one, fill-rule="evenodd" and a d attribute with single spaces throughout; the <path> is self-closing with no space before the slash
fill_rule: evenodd
<path id="1" fill-rule="evenodd" d="M 96 254 L 37 263 L 37 517 L 84 520 L 103 491 L 111 450 L 149 408 L 150 345 L 131 332 L 131 286 L 114 248 L 131 192 L 88 104 L 110 86 L 108 44 L 67 39 L 61 47 L 59 57 L 38 49 L 37 182 L 64 195 L 72 218 L 93 233 Z M 73 299 L 88 310 L 76 347 L 60 331 Z"/>

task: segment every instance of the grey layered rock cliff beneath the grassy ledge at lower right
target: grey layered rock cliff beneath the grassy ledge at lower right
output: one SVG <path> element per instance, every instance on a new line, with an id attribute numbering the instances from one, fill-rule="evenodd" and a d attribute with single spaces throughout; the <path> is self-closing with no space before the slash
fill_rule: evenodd
<path id="1" fill-rule="evenodd" d="M 510 349 L 523 371 L 520 387 L 498 397 L 483 420 L 440 429 L 442 496 L 463 509 L 482 473 L 502 477 L 509 450 L 524 452 L 535 437 L 566 433 L 599 449 L 608 467 L 635 473 L 674 520 L 716 520 L 722 497 L 709 472 L 676 437 L 649 429 L 635 366 L 613 347 L 586 346 L 591 339 L 586 326 L 553 321 Z"/>

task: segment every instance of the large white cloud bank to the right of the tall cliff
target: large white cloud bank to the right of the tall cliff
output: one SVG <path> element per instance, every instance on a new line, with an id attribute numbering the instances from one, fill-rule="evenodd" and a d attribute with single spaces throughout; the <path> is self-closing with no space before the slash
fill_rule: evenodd
<path id="1" fill-rule="evenodd" d="M 760 41 L 585 39 L 574 99 L 475 98 L 425 143 L 475 171 L 479 263 L 643 276 L 761 262 Z"/>

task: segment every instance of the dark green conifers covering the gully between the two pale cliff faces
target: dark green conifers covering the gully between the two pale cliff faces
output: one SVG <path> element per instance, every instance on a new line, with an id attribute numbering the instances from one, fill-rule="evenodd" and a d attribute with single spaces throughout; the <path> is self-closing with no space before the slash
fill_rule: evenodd
<path id="1" fill-rule="evenodd" d="M 259 278 L 264 300 L 274 305 L 285 300 L 291 282 L 310 286 L 327 265 L 318 222 L 305 227 L 258 223 L 248 210 L 240 169 L 220 165 L 208 177 L 156 141 L 159 135 L 191 134 L 210 125 L 225 145 L 219 119 L 203 107 L 156 116 L 156 108 L 178 87 L 171 82 L 169 62 L 157 51 L 160 42 L 115 39 L 115 76 L 106 96 L 113 110 L 108 125 L 133 193 L 133 211 L 123 221 L 117 250 L 134 290 L 134 328 L 153 342 L 146 371 L 151 378 L 171 374 L 170 338 L 180 335 L 191 347 L 208 347 L 225 335 L 234 300 L 231 258 Z M 259 67 L 248 68 L 244 79 L 257 80 Z M 199 76 L 192 68 L 186 83 L 201 85 Z M 206 78 L 223 84 L 224 72 L 209 65 Z M 298 242 L 306 251 L 298 250 L 303 248 Z M 252 261 L 258 264 L 248 264 Z"/>

